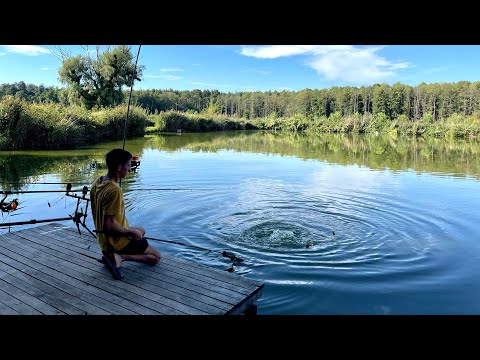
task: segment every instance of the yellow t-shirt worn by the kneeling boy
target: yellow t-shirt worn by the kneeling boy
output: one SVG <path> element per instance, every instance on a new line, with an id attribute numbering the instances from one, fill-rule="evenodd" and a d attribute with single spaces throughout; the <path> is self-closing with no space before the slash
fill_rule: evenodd
<path id="1" fill-rule="evenodd" d="M 99 176 L 92 184 L 90 200 L 92 202 L 92 217 L 95 230 L 103 231 L 104 215 L 114 215 L 115 222 L 118 225 L 128 228 L 128 221 L 125 217 L 125 200 L 118 183 L 112 180 L 102 181 L 102 176 Z M 118 251 L 123 249 L 130 241 L 126 236 L 106 236 L 103 232 L 98 232 L 97 238 L 100 247 L 104 251 L 108 251 L 108 243 L 115 251 Z"/>

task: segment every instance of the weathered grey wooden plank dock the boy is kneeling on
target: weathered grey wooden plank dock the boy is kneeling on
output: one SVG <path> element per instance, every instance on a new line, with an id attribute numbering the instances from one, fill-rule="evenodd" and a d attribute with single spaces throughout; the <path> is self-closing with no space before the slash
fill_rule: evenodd
<path id="1" fill-rule="evenodd" d="M 87 231 L 47 224 L 0 235 L 0 314 L 256 314 L 263 283 L 162 254 L 114 280 Z"/>

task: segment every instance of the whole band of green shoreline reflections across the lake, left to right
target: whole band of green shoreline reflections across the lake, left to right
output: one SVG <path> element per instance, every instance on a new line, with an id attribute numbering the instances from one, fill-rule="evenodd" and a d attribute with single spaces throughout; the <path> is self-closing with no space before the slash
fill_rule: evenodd
<path id="1" fill-rule="evenodd" d="M 45 174 L 57 174 L 59 182 L 84 182 L 106 172 L 105 154 L 121 148 L 123 142 L 66 151 L 3 152 L 0 154 L 0 182 L 35 183 Z M 215 132 L 181 135 L 152 135 L 128 140 L 125 148 L 142 158 L 148 149 L 162 151 L 241 152 L 279 154 L 316 159 L 372 169 L 442 172 L 479 177 L 480 144 L 468 140 L 437 138 L 397 139 L 390 136 L 355 134 L 316 134 L 273 132 Z M 138 176 L 130 175 L 130 178 Z M 127 186 L 127 182 L 125 186 Z M 122 185 L 123 186 L 123 185 Z M 21 190 L 22 185 L 3 184 L 4 190 Z"/>

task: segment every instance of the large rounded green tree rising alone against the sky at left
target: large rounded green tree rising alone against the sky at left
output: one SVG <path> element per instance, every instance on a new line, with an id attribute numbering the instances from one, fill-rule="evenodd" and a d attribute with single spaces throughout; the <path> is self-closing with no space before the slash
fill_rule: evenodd
<path id="1" fill-rule="evenodd" d="M 60 50 L 62 67 L 59 80 L 68 87 L 68 100 L 72 104 L 94 107 L 116 106 L 123 102 L 123 86 L 141 80 L 143 65 L 135 70 L 134 56 L 129 46 L 115 46 L 105 50 L 100 46 L 96 56 L 68 56 Z"/>

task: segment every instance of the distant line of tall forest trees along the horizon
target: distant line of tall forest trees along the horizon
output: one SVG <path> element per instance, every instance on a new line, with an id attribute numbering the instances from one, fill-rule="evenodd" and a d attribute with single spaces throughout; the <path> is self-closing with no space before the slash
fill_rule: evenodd
<path id="1" fill-rule="evenodd" d="M 126 84 L 126 80 L 123 82 Z M 82 105 L 73 97 L 71 89 L 25 84 L 23 81 L 0 85 L 0 100 L 6 95 L 28 102 Z M 125 104 L 123 97 L 112 105 Z M 133 90 L 133 104 L 149 113 L 175 110 L 189 113 L 225 115 L 232 118 L 255 119 L 265 117 L 288 118 L 330 117 L 354 114 L 385 114 L 388 119 L 406 118 L 433 121 L 453 114 L 480 114 L 480 81 L 456 83 L 421 83 L 417 86 L 396 83 L 375 84 L 362 87 L 332 87 L 329 89 L 305 89 L 301 91 L 229 92 L 218 90 Z M 92 101 L 91 101 L 92 102 Z M 107 106 L 103 101 L 102 106 Z M 85 104 L 84 104 L 85 105 Z M 94 103 L 87 108 L 95 106 Z"/>

